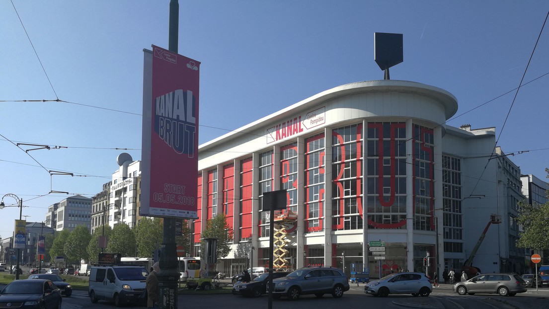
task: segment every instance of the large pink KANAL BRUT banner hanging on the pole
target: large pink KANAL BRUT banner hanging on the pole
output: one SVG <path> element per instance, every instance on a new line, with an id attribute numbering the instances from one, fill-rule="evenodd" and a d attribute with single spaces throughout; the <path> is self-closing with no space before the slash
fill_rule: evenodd
<path id="1" fill-rule="evenodd" d="M 198 61 L 144 51 L 139 215 L 198 218 Z"/>

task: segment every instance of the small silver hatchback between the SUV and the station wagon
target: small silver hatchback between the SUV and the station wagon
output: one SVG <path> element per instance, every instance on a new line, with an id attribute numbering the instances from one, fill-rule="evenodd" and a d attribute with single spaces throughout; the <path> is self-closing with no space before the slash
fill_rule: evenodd
<path id="1" fill-rule="evenodd" d="M 364 286 L 364 293 L 386 297 L 389 294 L 412 294 L 429 296 L 433 285 L 423 273 L 393 273 Z"/>

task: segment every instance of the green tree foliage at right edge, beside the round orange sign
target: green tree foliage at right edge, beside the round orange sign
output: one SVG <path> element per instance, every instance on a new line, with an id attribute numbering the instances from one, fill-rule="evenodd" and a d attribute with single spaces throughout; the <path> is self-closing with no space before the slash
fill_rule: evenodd
<path id="1" fill-rule="evenodd" d="M 519 206 L 517 221 L 522 225 L 523 232 L 519 233 L 517 246 L 535 250 L 549 249 L 549 202 L 534 206 L 519 203 Z"/>

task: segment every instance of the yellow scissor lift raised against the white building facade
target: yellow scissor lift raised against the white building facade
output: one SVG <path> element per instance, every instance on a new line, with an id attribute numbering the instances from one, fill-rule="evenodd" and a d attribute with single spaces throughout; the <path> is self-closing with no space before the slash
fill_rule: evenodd
<path id="1" fill-rule="evenodd" d="M 291 210 L 279 210 L 275 212 L 275 231 L 273 234 L 273 269 L 285 271 L 290 268 L 286 257 L 290 254 L 284 247 L 290 242 L 288 234 L 295 230 L 298 214 Z"/>

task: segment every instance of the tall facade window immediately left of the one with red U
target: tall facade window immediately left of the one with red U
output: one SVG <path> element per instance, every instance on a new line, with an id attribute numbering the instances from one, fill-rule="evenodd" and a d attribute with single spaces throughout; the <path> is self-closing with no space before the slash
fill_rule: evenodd
<path id="1" fill-rule="evenodd" d="M 362 125 L 332 131 L 334 230 L 362 229 Z"/>

